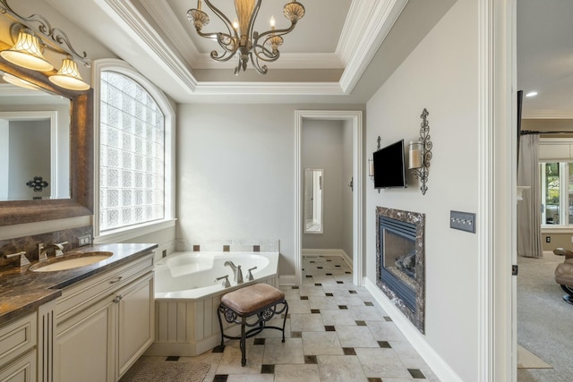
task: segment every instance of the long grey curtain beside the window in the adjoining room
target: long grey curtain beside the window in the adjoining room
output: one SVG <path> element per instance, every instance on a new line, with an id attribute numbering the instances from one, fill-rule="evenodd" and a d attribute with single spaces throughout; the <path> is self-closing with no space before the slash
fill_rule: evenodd
<path id="1" fill-rule="evenodd" d="M 539 135 L 522 135 L 519 143 L 517 186 L 529 186 L 517 201 L 517 255 L 542 258 Z"/>

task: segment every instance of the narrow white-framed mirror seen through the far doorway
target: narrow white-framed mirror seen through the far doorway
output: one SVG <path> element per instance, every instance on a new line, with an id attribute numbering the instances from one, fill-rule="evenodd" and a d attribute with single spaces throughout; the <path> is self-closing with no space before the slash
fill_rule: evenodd
<path id="1" fill-rule="evenodd" d="M 304 233 L 322 233 L 323 182 L 323 169 L 304 169 Z"/>

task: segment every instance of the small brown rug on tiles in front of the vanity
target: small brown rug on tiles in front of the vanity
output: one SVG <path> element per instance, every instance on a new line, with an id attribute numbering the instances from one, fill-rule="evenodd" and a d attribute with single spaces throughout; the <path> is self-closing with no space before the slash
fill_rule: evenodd
<path id="1" fill-rule="evenodd" d="M 210 364 L 203 362 L 163 360 L 141 357 L 120 382 L 202 382 L 210 369 Z"/>

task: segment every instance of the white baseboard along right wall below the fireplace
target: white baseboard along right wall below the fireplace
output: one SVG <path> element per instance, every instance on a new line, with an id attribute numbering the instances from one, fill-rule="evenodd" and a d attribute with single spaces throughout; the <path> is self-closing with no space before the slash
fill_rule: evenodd
<path id="1" fill-rule="evenodd" d="M 415 350 L 423 358 L 423 361 L 430 366 L 440 380 L 463 382 L 462 378 L 459 378 L 458 374 L 449 367 L 449 364 L 440 357 L 440 354 L 435 352 L 432 346 L 426 342 L 425 337 L 418 329 L 407 320 L 394 303 L 386 297 L 386 294 L 382 293 L 378 285 L 373 284 L 366 277 L 363 278 L 363 285 L 366 286 L 368 292 L 372 294 L 372 297 L 381 305 L 382 309 L 389 314 L 389 317 L 392 318 L 398 329 L 406 336 L 406 339 L 414 346 Z"/>

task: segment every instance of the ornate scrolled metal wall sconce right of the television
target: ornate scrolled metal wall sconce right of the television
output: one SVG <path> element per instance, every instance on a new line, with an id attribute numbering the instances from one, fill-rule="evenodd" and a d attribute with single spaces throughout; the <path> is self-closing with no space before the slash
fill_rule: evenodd
<path id="1" fill-rule="evenodd" d="M 430 173 L 430 160 L 432 159 L 432 140 L 430 140 L 430 126 L 428 124 L 428 110 L 423 109 L 422 123 L 420 123 L 420 138 L 417 142 L 410 141 L 409 144 L 409 166 L 416 179 L 420 179 L 420 191 L 425 195 L 428 191 L 428 174 Z"/>

